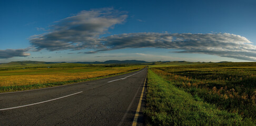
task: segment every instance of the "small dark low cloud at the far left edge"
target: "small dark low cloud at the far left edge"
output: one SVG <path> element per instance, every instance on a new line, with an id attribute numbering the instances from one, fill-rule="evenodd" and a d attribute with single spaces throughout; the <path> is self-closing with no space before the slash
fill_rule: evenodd
<path id="1" fill-rule="evenodd" d="M 6 49 L 0 50 L 0 59 L 12 58 L 12 57 L 26 57 L 30 56 L 29 53 L 25 53 L 28 49 Z"/>

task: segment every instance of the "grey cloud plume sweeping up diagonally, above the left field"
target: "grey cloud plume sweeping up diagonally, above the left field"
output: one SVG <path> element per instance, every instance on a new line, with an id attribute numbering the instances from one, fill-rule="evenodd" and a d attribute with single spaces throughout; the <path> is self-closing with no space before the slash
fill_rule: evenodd
<path id="1" fill-rule="evenodd" d="M 116 24 L 124 22 L 127 15 L 112 8 L 83 10 L 55 22 L 50 32 L 29 38 L 36 50 L 80 50 L 104 48 L 99 36 L 107 33 Z"/>

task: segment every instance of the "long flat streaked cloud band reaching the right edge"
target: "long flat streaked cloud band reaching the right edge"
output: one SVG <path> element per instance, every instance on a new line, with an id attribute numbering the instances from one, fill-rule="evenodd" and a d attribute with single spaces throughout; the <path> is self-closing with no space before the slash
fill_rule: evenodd
<path id="1" fill-rule="evenodd" d="M 256 46 L 240 35 L 218 34 L 169 34 L 169 33 L 130 33 L 101 38 L 105 49 L 122 48 L 166 48 L 181 49 L 175 53 L 198 53 L 217 55 L 243 60 L 256 61 Z"/>

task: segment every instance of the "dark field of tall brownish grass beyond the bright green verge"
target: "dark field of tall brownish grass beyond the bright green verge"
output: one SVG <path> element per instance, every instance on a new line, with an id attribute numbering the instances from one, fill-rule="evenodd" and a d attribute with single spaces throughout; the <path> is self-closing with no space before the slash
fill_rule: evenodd
<path id="1" fill-rule="evenodd" d="M 152 69 L 174 83 L 221 110 L 239 113 L 243 120 L 256 124 L 256 63 L 223 63 L 162 67 Z"/>

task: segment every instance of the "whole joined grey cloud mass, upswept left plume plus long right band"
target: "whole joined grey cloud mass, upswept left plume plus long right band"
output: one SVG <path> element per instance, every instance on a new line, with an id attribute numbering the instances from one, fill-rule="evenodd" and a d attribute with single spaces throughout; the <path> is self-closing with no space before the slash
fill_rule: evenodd
<path id="1" fill-rule="evenodd" d="M 112 8 L 84 10 L 55 22 L 48 33 L 34 35 L 29 41 L 36 50 L 81 50 L 94 54 L 123 48 L 181 49 L 175 53 L 209 54 L 256 61 L 256 46 L 240 35 L 190 33 L 130 33 L 100 37 L 116 24 L 125 22 L 127 15 Z"/>

